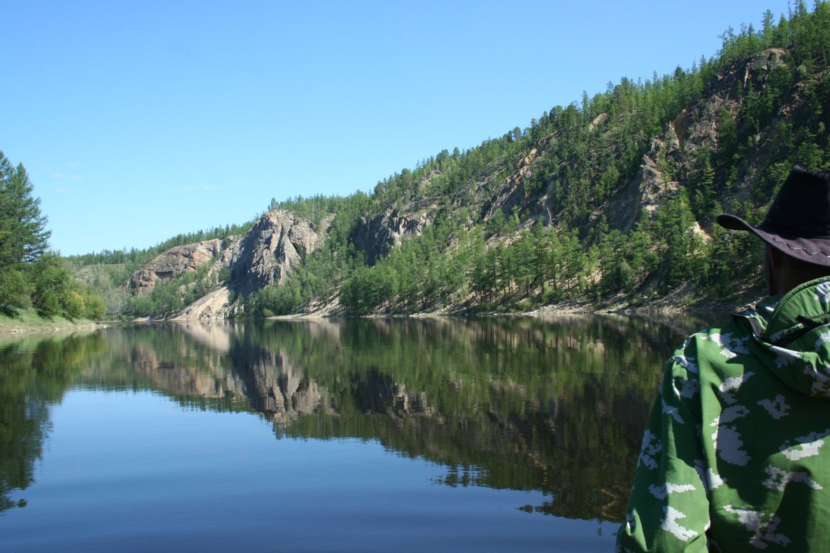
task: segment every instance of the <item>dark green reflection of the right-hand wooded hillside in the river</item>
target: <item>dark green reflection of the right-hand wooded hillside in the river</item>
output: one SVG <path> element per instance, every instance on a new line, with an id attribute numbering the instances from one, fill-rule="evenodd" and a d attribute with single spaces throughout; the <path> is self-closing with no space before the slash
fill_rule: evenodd
<path id="1" fill-rule="evenodd" d="M 339 327 L 339 342 L 304 331 L 320 325 Z M 279 434 L 377 439 L 451 467 L 447 484 L 538 489 L 550 499 L 531 510 L 613 520 L 623 517 L 662 363 L 680 339 L 619 317 L 291 322 L 258 332 L 261 347 L 314 367 L 338 414 L 300 417 Z"/>

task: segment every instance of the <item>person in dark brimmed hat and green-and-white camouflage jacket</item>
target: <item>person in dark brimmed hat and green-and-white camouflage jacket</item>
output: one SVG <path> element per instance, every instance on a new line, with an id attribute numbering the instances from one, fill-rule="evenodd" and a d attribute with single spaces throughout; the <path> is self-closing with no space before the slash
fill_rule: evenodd
<path id="1" fill-rule="evenodd" d="M 617 551 L 830 551 L 830 172 L 764 222 L 769 296 L 666 362 Z"/>

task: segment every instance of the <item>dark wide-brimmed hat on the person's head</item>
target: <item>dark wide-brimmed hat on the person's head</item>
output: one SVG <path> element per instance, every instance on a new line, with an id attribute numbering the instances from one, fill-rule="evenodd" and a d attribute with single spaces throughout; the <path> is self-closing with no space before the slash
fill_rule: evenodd
<path id="1" fill-rule="evenodd" d="M 718 225 L 749 230 L 785 255 L 830 267 L 830 172 L 796 165 L 759 226 L 734 215 L 719 215 Z"/>

